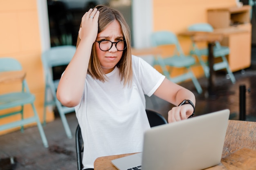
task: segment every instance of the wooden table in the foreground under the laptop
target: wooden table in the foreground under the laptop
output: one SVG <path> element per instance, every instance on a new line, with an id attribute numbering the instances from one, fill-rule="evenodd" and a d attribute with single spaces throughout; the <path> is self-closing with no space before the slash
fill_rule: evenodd
<path id="1" fill-rule="evenodd" d="M 132 154 L 99 157 L 94 170 L 117 170 L 111 160 Z M 256 122 L 229 120 L 221 163 L 205 170 L 256 170 Z"/>

